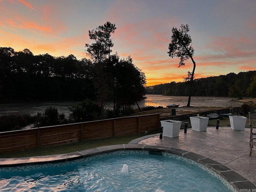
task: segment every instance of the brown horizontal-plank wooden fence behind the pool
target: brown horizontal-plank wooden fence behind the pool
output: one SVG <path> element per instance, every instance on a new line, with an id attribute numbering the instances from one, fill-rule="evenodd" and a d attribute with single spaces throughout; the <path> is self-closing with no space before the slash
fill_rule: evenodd
<path id="1" fill-rule="evenodd" d="M 160 114 L 149 114 L 0 132 L 0 152 L 44 148 L 80 140 L 128 136 L 156 130 L 159 127 Z"/>

